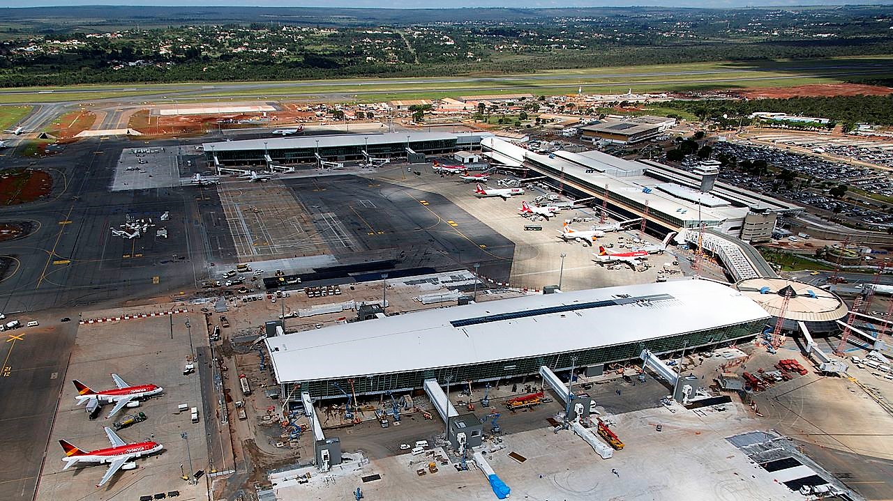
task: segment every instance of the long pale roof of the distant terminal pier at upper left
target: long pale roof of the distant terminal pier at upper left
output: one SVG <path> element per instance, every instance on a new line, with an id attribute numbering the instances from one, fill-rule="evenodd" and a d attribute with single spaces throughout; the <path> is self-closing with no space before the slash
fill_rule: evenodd
<path id="1" fill-rule="evenodd" d="M 202 144 L 205 152 L 242 152 L 246 150 L 297 150 L 302 148 L 332 148 L 339 146 L 363 146 L 364 144 L 400 144 L 407 137 L 412 144 L 418 141 L 455 140 L 455 134 L 440 132 L 412 132 L 407 134 L 336 134 L 331 136 L 264 137 L 241 141 L 222 141 Z"/>

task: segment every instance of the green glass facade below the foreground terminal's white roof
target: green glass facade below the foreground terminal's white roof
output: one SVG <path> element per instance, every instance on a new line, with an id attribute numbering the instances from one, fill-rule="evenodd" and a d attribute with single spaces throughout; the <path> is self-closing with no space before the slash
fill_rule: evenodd
<path id="1" fill-rule="evenodd" d="M 298 383 L 300 385 L 298 389 L 295 389 L 292 383 L 286 383 L 283 384 L 282 394 L 292 395 L 292 399 L 299 399 L 301 392 L 309 391 L 313 398 L 341 398 L 343 397 L 342 393 L 333 383 L 337 383 L 338 386 L 344 389 L 353 388 L 355 393 L 359 395 L 420 389 L 426 379 L 432 378 L 437 379 L 441 384 L 447 382 L 447 378 L 454 384 L 464 384 L 469 381 L 504 380 L 537 374 L 541 365 L 547 365 L 554 371 L 567 371 L 571 368 L 572 357 L 577 357 L 575 366 L 582 368 L 590 365 L 604 365 L 631 360 L 637 358 L 643 349 L 650 349 L 656 354 L 663 354 L 679 351 L 683 348 L 712 347 L 729 343 L 730 341 L 753 338 L 763 331 L 766 321 L 766 319 L 761 319 L 654 340 L 580 349 L 566 353 L 545 354 L 538 357 L 440 367 L 404 373 L 373 374 L 337 380 L 300 382 Z"/>

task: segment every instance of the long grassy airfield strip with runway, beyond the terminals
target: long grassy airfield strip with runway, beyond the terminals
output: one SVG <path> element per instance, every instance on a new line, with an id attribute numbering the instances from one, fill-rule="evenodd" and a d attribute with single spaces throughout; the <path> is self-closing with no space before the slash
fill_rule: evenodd
<path id="1" fill-rule="evenodd" d="M 697 91 L 834 84 L 893 77 L 893 55 L 752 64 L 700 62 L 622 66 L 581 70 L 548 70 L 536 74 L 430 78 L 343 78 L 284 82 L 221 82 L 184 84 L 115 84 L 105 86 L 22 87 L 0 89 L 0 103 L 92 102 L 127 98 L 163 103 L 208 99 L 313 99 L 387 101 L 438 98 L 463 94 L 572 94 L 580 87 L 592 94 Z M 10 94 L 3 94 L 4 91 Z"/>

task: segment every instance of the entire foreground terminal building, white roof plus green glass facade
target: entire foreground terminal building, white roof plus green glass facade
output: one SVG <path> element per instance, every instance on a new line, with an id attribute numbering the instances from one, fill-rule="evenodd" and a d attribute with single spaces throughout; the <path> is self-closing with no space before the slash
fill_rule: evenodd
<path id="1" fill-rule="evenodd" d="M 605 364 L 752 339 L 769 315 L 722 283 L 680 280 L 438 308 L 265 340 L 282 395 L 421 389 Z"/>

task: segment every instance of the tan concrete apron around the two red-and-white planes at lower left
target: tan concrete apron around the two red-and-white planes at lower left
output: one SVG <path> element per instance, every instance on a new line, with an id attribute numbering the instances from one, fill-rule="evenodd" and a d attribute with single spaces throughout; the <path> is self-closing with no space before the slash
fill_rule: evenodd
<path id="1" fill-rule="evenodd" d="M 84 316 L 107 314 L 85 312 Z M 201 329 L 187 327 L 188 317 L 193 317 L 197 325 L 201 316 L 177 314 L 80 325 L 67 379 L 78 379 L 93 390 L 107 390 L 115 386 L 109 376 L 113 373 L 130 385 L 154 383 L 164 391 L 160 397 L 146 400 L 136 408 L 125 407 L 107 420 L 104 415 L 111 407 L 104 406 L 97 419 L 90 420 L 85 408 L 75 403 L 74 385 L 66 381 L 40 478 L 38 499 L 136 500 L 158 493 L 167 495 L 175 490 L 179 491 L 179 499 L 194 499 L 204 493 L 206 475 L 199 478 L 197 486 L 180 478 L 183 472 L 208 469 L 204 420 L 209 416 L 200 411 L 199 423 L 192 423 L 188 411 L 178 410 L 180 404 L 204 409 L 198 374 L 183 375 L 191 347 L 207 345 Z M 118 434 L 128 443 L 154 440 L 163 445 L 161 453 L 137 459 L 135 470 L 121 469 L 102 488 L 95 486 L 106 465 L 75 466 L 63 471 L 60 459 L 64 454 L 58 445 L 59 439 L 84 450 L 109 448 L 103 426 L 113 426 L 125 415 L 139 412 L 146 415 L 146 421 L 132 424 Z"/>

